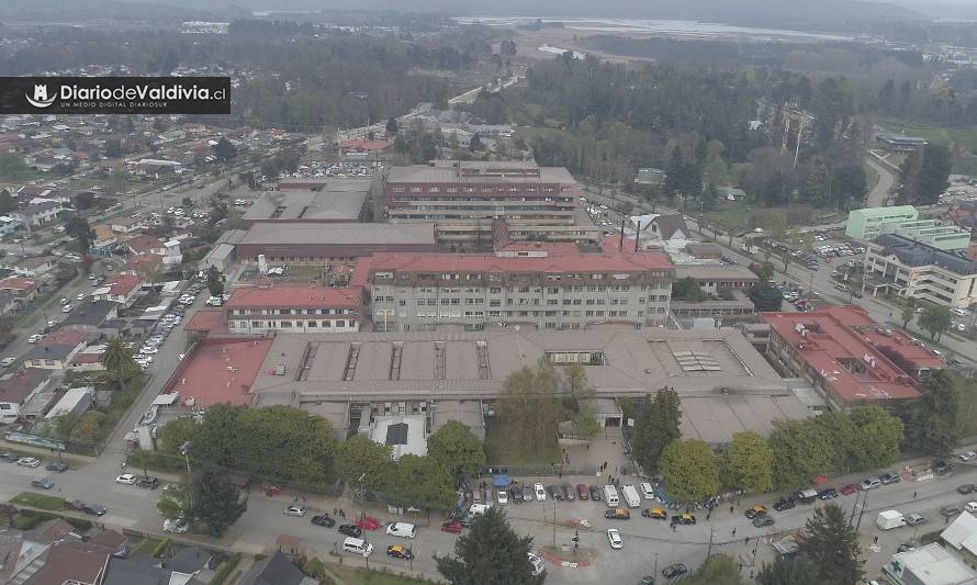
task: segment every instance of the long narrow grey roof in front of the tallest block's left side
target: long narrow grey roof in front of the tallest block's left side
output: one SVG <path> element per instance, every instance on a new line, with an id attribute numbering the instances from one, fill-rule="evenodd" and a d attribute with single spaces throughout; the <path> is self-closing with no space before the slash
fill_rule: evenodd
<path id="1" fill-rule="evenodd" d="M 255 224 L 238 244 L 435 244 L 434 224 Z"/>

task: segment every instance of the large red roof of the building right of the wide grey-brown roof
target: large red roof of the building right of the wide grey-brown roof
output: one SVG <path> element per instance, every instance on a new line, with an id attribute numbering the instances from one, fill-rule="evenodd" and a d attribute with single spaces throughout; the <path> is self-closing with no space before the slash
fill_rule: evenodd
<path id="1" fill-rule="evenodd" d="M 858 305 L 808 313 L 761 313 L 760 318 L 796 348 L 797 358 L 819 372 L 826 386 L 844 402 L 920 396 L 912 378 L 876 348 L 875 341 L 885 336 L 877 333 L 878 324 Z M 910 347 L 907 340 L 902 349 L 909 351 Z"/>

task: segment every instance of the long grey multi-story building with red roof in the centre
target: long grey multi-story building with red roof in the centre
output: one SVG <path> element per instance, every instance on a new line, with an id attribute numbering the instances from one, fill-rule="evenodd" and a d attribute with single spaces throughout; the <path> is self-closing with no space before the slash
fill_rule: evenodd
<path id="1" fill-rule="evenodd" d="M 675 271 L 661 252 L 514 251 L 495 255 L 375 254 L 367 272 L 377 330 L 532 325 L 585 329 L 661 325 Z M 514 256 L 515 255 L 515 256 Z M 359 277 L 362 278 L 362 277 Z M 353 277 L 353 282 L 358 277 Z"/>

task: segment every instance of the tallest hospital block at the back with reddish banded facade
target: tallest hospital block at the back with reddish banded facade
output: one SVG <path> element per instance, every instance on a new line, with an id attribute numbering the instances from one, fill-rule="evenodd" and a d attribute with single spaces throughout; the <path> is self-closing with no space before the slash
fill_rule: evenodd
<path id="1" fill-rule="evenodd" d="M 493 223 L 514 239 L 596 244 L 603 232 L 577 207 L 580 188 L 562 167 L 515 161 L 445 161 L 394 167 L 373 216 L 389 222 L 435 222 L 438 241 L 488 248 Z"/>

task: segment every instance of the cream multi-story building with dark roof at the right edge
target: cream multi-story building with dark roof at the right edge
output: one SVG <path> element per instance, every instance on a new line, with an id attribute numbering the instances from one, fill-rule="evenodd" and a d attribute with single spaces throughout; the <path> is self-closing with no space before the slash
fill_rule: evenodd
<path id="1" fill-rule="evenodd" d="M 891 292 L 937 305 L 977 303 L 977 262 L 895 234 L 883 234 L 865 254 L 865 290 Z"/>

